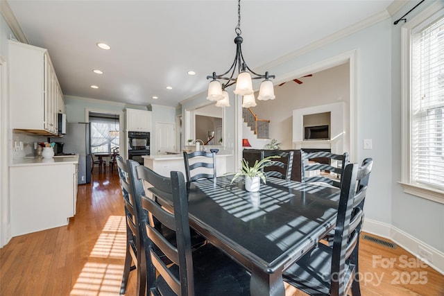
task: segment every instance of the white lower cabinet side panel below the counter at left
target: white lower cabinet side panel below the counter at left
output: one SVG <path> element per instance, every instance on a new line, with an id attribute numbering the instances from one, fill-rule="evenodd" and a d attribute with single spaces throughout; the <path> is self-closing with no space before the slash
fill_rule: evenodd
<path id="1" fill-rule="evenodd" d="M 11 235 L 67 225 L 74 216 L 77 164 L 11 166 Z"/>

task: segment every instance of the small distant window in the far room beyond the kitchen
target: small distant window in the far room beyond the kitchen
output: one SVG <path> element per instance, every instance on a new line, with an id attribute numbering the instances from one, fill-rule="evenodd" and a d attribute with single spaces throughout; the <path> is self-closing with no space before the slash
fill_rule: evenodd
<path id="1" fill-rule="evenodd" d="M 119 135 L 114 137 L 112 130 L 119 130 L 119 118 L 89 116 L 91 124 L 91 152 L 111 153 L 112 148 L 119 147 Z"/>

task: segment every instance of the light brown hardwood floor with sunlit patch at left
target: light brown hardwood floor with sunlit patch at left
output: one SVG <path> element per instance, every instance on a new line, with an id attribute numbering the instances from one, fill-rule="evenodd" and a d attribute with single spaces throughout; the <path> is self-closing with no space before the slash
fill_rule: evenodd
<path id="1" fill-rule="evenodd" d="M 126 240 L 114 170 L 79 186 L 69 225 L 12 238 L 0 249 L 0 295 L 119 295 Z M 361 239 L 362 295 L 444 295 L 444 276 L 397 247 Z M 391 263 L 393 262 L 393 263 Z M 126 295 L 135 295 L 130 275 Z M 286 296 L 305 295 L 286 286 Z"/>

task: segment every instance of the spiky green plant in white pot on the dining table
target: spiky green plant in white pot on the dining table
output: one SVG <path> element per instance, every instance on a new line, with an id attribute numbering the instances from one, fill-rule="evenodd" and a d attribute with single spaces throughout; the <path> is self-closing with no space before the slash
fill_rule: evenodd
<path id="1" fill-rule="evenodd" d="M 231 180 L 231 183 L 239 176 L 245 177 L 245 189 L 246 191 L 256 192 L 259 191 L 260 180 L 266 183 L 266 175 L 264 174 L 264 167 L 269 165 L 272 158 L 279 158 L 278 155 L 268 156 L 260 161 L 255 161 L 253 166 L 250 166 L 245 159 L 242 159 L 241 171 L 236 173 Z"/>

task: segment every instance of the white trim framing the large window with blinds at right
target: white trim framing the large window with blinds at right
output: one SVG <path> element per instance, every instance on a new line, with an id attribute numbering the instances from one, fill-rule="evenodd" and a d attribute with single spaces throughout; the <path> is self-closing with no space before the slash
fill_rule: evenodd
<path id="1" fill-rule="evenodd" d="M 398 182 L 404 189 L 404 193 L 416 195 L 420 198 L 433 200 L 444 204 L 444 191 L 432 186 L 418 184 L 411 180 L 411 33 L 427 19 L 436 19 L 444 16 L 443 4 L 435 2 L 425 8 L 411 21 L 401 28 L 401 98 L 402 98 L 402 166 L 401 181 Z"/>

